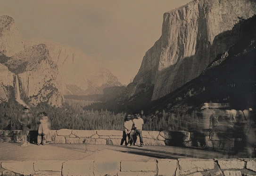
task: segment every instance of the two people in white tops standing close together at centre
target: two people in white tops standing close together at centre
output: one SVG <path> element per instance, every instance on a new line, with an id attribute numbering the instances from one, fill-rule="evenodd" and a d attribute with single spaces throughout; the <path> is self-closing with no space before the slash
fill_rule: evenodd
<path id="1" fill-rule="evenodd" d="M 133 116 L 130 114 L 125 115 L 124 118 L 124 133 L 123 138 L 121 140 L 121 145 L 125 146 L 135 145 L 137 140 L 137 135 L 140 138 L 140 146 L 143 146 L 143 138 L 142 138 L 142 125 L 144 124 L 141 116 L 143 115 L 143 110 L 140 113 L 134 113 Z"/>

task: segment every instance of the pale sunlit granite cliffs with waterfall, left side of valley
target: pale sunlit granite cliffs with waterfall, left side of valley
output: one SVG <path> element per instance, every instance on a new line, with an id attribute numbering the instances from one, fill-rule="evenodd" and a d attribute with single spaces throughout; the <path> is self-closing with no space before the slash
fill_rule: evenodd
<path id="1" fill-rule="evenodd" d="M 32 106 L 60 107 L 65 94 L 103 94 L 117 78 L 81 51 L 51 41 L 22 39 L 14 19 L 0 16 L 0 101 L 20 97 Z M 18 81 L 16 81 L 17 79 Z"/>

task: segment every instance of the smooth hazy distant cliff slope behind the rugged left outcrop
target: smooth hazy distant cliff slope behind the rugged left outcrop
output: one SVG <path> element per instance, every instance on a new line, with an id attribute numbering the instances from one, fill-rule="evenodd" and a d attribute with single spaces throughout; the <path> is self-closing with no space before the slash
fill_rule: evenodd
<path id="1" fill-rule="evenodd" d="M 106 87 L 121 86 L 117 77 L 90 56 L 70 46 L 51 41 L 40 41 L 49 48 L 49 54 L 58 65 L 65 94 L 103 94 Z"/>

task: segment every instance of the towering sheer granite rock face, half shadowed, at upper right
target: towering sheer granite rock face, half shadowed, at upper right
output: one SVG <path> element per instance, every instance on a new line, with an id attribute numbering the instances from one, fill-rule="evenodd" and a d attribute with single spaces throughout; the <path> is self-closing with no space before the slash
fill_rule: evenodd
<path id="1" fill-rule="evenodd" d="M 226 31 L 255 14 L 254 0 L 194 0 L 166 12 L 162 36 L 146 52 L 132 89 L 154 85 L 151 100 L 155 100 L 198 77 L 239 40 L 239 32 Z"/>

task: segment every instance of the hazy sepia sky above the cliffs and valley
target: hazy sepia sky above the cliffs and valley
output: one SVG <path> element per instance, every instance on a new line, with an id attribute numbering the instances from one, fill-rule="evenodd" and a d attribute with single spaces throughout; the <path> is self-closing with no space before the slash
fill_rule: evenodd
<path id="1" fill-rule="evenodd" d="M 161 36 L 163 14 L 191 0 L 0 0 L 25 39 L 82 50 L 127 84 Z"/>

